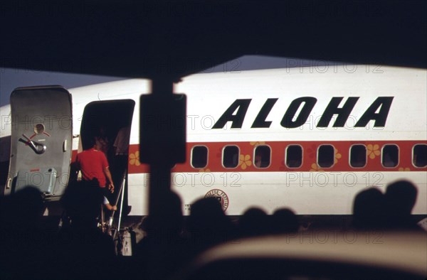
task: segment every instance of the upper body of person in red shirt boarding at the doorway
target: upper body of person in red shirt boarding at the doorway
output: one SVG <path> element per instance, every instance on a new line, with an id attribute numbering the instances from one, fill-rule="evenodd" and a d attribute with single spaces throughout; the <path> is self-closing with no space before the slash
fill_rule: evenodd
<path id="1" fill-rule="evenodd" d="M 81 171 L 83 181 L 90 182 L 96 179 L 100 188 L 105 190 L 107 187 L 111 192 L 114 191 L 107 158 L 102 151 L 96 149 L 95 141 L 93 141 L 92 148 L 77 154 L 75 168 L 77 171 Z"/>

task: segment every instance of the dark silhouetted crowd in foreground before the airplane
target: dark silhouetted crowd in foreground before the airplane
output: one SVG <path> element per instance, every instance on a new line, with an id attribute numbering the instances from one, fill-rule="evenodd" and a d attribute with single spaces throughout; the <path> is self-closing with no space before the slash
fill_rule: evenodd
<path id="1" fill-rule="evenodd" d="M 411 211 L 416 186 L 397 181 L 386 188 L 362 190 L 354 198 L 355 230 L 420 230 Z M 75 183 L 63 196 L 70 222 L 60 230 L 43 227 L 43 199 L 36 188 L 0 197 L 0 279 L 169 279 L 204 250 L 242 237 L 295 234 L 297 215 L 288 209 L 273 215 L 250 208 L 237 222 L 225 215 L 216 198 L 181 212 L 176 193 L 164 196 L 164 215 L 144 217 L 146 236 L 132 257 L 117 257 L 109 235 L 97 227 L 102 193 Z"/>

